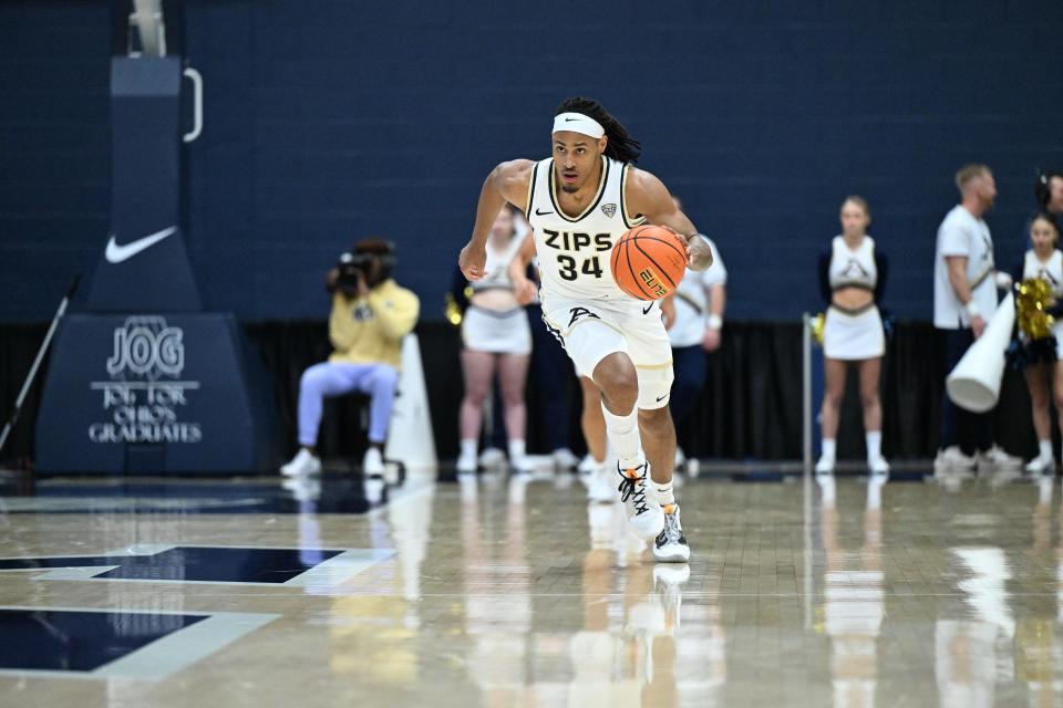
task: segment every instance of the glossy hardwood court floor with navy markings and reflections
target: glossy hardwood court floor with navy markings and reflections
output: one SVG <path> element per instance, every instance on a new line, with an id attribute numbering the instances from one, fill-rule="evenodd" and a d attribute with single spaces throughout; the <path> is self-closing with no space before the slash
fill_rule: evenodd
<path id="1" fill-rule="evenodd" d="M 685 480 L 693 558 L 680 565 L 654 564 L 622 508 L 588 503 L 570 476 L 415 477 L 391 493 L 330 477 L 13 488 L 0 498 L 0 695 L 1063 701 L 1051 478 L 781 479 Z"/>

